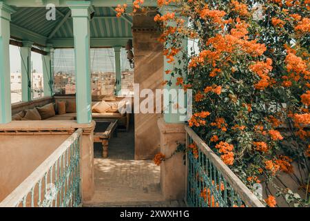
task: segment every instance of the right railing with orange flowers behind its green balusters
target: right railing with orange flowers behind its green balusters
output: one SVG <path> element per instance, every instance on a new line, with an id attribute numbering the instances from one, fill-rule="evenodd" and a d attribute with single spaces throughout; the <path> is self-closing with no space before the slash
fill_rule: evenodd
<path id="1" fill-rule="evenodd" d="M 186 202 L 194 207 L 264 207 L 229 167 L 185 126 L 187 151 Z"/>

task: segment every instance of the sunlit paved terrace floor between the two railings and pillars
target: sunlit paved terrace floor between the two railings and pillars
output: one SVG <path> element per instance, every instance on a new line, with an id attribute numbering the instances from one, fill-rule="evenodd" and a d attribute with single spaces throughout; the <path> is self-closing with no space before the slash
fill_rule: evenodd
<path id="1" fill-rule="evenodd" d="M 152 160 L 134 160 L 134 128 L 118 132 L 109 143 L 109 157 L 101 157 L 94 144 L 95 193 L 83 206 L 183 206 L 164 201 L 160 188 L 160 166 Z"/>

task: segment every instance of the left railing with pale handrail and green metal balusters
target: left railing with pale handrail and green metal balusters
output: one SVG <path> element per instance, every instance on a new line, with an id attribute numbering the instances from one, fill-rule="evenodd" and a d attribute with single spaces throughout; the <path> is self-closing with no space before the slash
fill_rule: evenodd
<path id="1" fill-rule="evenodd" d="M 0 203 L 0 207 L 80 206 L 82 132 L 80 128 L 68 137 Z"/>

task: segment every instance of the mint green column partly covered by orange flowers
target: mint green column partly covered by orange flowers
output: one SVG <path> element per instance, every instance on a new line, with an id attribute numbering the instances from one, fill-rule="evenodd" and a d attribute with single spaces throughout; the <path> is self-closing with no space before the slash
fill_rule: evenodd
<path id="1" fill-rule="evenodd" d="M 168 7 L 167 7 L 168 8 Z M 168 8 L 169 9 L 169 8 Z M 167 11 L 164 12 L 163 15 L 165 15 Z M 186 21 L 186 18 L 183 18 Z M 187 24 L 187 23 L 186 23 Z M 168 26 L 176 26 L 175 22 L 169 21 Z M 169 47 L 169 46 L 168 46 Z M 187 39 L 184 39 L 182 41 L 182 44 L 180 46 L 183 48 L 185 52 L 187 52 Z M 169 81 L 171 79 L 171 75 L 167 75 L 165 73 L 166 70 L 172 70 L 174 71 L 174 68 L 185 68 L 187 64 L 183 62 L 182 59 L 182 52 L 178 53 L 178 58 L 175 58 L 175 61 L 173 63 L 168 63 L 166 57 L 164 56 L 164 73 L 163 73 L 163 79 L 164 81 Z M 180 63 L 178 60 L 180 59 Z M 178 89 L 182 89 L 181 86 L 176 86 L 176 78 L 177 77 L 183 77 L 183 79 L 186 79 L 185 74 L 183 76 L 180 76 L 179 74 L 175 73 L 175 76 L 172 77 L 172 85 L 169 86 L 168 84 L 165 84 L 163 97 L 164 97 L 164 119 L 166 123 L 184 123 L 184 121 L 180 120 L 182 119 L 186 113 L 180 113 L 177 106 L 185 106 L 185 104 L 180 104 L 179 100 L 179 91 Z M 184 97 L 184 101 L 186 102 L 186 97 Z M 184 103 L 185 103 L 184 102 Z M 185 106 L 186 108 L 186 106 Z"/>

